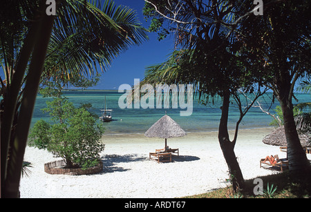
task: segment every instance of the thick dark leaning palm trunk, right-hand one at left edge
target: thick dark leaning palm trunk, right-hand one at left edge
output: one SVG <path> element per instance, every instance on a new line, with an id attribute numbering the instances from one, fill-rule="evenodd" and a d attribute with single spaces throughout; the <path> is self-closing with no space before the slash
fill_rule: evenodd
<path id="1" fill-rule="evenodd" d="M 35 106 L 35 99 L 37 97 L 54 19 L 54 16 L 48 17 L 47 15 L 43 15 L 40 20 L 41 25 L 39 27 L 40 30 L 38 31 L 40 36 L 32 52 L 28 78 L 24 88 L 21 108 L 19 110 L 16 134 L 15 137 L 12 138 L 14 143 L 10 146 L 10 160 L 8 161 L 6 179 L 3 185 L 3 197 L 19 196 L 19 182 L 21 178 L 23 155 L 25 153 L 32 112 Z"/>

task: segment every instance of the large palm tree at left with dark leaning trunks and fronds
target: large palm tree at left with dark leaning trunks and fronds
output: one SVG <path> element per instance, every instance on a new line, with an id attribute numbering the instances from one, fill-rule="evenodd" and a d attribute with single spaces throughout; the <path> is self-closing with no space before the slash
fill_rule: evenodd
<path id="1" fill-rule="evenodd" d="M 6 0 L 0 13 L 1 197 L 17 197 L 32 111 L 42 77 L 92 77 L 97 64 L 147 39 L 135 12 L 104 1 L 57 0 L 57 15 L 46 1 Z"/>

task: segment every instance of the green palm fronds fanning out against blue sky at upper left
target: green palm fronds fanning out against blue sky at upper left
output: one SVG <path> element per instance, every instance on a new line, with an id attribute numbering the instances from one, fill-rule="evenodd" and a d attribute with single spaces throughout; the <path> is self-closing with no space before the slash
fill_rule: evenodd
<path id="1" fill-rule="evenodd" d="M 91 77 L 106 70 L 117 55 L 147 40 L 135 11 L 110 0 L 67 0 L 60 7 L 46 58 L 46 77 Z M 69 26 L 68 28 L 64 26 Z"/>

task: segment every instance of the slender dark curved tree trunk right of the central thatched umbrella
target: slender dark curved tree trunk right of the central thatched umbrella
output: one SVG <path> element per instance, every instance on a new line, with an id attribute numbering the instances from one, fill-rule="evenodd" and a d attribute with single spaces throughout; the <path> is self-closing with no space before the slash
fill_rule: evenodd
<path id="1" fill-rule="evenodd" d="M 218 129 L 218 141 L 220 148 L 223 151 L 223 155 L 229 168 L 230 180 L 232 180 L 233 191 L 236 193 L 243 190 L 244 178 L 238 161 L 236 160 L 236 154 L 234 153 L 235 142 L 230 142 L 229 133 L 227 128 L 228 115 L 229 115 L 229 102 L 230 93 L 225 93 L 223 97 L 223 106 L 221 108 L 221 118 Z"/>

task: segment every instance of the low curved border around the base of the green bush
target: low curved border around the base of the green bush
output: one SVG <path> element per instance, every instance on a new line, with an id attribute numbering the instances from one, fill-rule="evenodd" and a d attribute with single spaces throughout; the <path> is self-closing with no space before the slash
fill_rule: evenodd
<path id="1" fill-rule="evenodd" d="M 61 168 L 62 166 L 66 166 L 64 160 L 48 162 L 44 164 L 44 171 L 50 175 L 90 175 L 99 173 L 103 169 L 102 160 L 100 160 L 97 166 L 86 168 L 85 170 L 82 170 L 82 168 Z"/>

